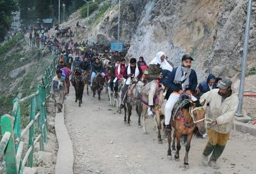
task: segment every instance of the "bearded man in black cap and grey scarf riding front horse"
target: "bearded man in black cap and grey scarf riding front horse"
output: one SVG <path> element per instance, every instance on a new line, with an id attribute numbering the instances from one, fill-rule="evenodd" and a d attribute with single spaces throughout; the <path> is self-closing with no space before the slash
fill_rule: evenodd
<path id="1" fill-rule="evenodd" d="M 192 92 L 195 91 L 197 85 L 196 71 L 191 69 L 193 60 L 194 59 L 190 55 L 183 55 L 181 64 L 173 69 L 169 78 L 168 84 L 170 85 L 168 87 L 172 93 L 164 108 L 164 124 L 166 125 L 165 133 L 168 136 L 172 131 L 172 126 L 170 125 L 172 110 L 177 101 L 179 101 L 180 94 L 186 93 L 191 96 L 193 101 L 196 101 L 196 98 L 192 96 Z"/>

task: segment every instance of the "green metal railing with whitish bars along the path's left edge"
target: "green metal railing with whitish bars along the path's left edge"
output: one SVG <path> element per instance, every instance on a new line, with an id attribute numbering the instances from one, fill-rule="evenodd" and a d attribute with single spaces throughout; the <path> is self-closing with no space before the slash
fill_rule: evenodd
<path id="1" fill-rule="evenodd" d="M 3 138 L 0 142 L 0 158 L 4 156 L 6 174 L 22 173 L 26 165 L 33 167 L 33 149 L 36 142 L 39 141 L 40 150 L 44 150 L 48 130 L 46 101 L 50 96 L 50 85 L 55 74 L 56 61 L 57 55 L 54 55 L 51 65 L 45 70 L 42 85 L 37 87 L 36 92 L 22 99 L 13 99 L 12 115 L 3 115 L 1 117 Z M 21 131 L 20 107 L 22 103 L 29 102 L 29 100 L 29 124 Z M 36 129 L 35 122 L 38 123 L 38 129 Z M 23 152 L 24 141 L 22 141 L 22 138 L 28 131 L 28 150 Z"/>

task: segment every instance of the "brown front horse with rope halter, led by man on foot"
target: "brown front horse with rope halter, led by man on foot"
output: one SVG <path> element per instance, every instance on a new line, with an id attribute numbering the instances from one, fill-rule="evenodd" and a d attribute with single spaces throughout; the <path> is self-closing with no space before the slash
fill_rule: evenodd
<path id="1" fill-rule="evenodd" d="M 177 150 L 175 152 L 175 161 L 179 161 L 179 151 L 180 151 L 180 137 L 182 135 L 186 135 L 188 137 L 188 141 L 186 143 L 186 154 L 184 157 L 184 168 L 189 168 L 188 163 L 188 153 L 190 149 L 190 143 L 193 136 L 193 131 L 197 126 L 200 133 L 205 133 L 205 111 L 202 106 L 196 106 L 195 102 L 191 101 L 191 99 L 184 99 L 184 96 L 188 96 L 186 94 L 182 94 L 180 96 L 179 101 L 175 105 L 172 112 L 172 119 L 170 121 L 172 127 L 174 128 L 173 133 L 173 143 L 172 150 L 175 149 L 175 139 L 177 141 Z M 182 99 L 183 98 L 183 99 Z M 172 156 L 171 150 L 171 142 L 172 142 L 172 134 L 168 135 L 168 153 L 167 156 Z"/>

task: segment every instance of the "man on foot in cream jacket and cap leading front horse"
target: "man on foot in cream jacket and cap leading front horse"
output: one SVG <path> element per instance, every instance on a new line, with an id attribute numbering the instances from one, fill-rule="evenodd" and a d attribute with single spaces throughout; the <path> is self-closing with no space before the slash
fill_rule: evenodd
<path id="1" fill-rule="evenodd" d="M 232 91 L 231 85 L 231 80 L 225 78 L 218 83 L 219 89 L 212 89 L 200 98 L 200 102 L 207 110 L 205 117 L 212 120 L 206 126 L 209 140 L 202 154 L 202 163 L 209 164 L 214 169 L 220 168 L 216 161 L 225 149 L 238 106 L 238 97 Z"/>

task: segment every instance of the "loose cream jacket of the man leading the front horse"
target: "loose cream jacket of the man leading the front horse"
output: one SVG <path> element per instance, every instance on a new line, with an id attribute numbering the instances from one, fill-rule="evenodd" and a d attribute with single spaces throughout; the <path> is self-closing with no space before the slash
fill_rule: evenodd
<path id="1" fill-rule="evenodd" d="M 201 96 L 200 103 L 205 100 L 205 118 L 217 121 L 213 127 L 207 125 L 207 129 L 214 129 L 218 133 L 230 133 L 238 106 L 238 97 L 232 92 L 231 96 L 221 103 L 222 97 L 218 94 L 219 91 L 220 89 L 212 89 L 206 92 Z"/>

